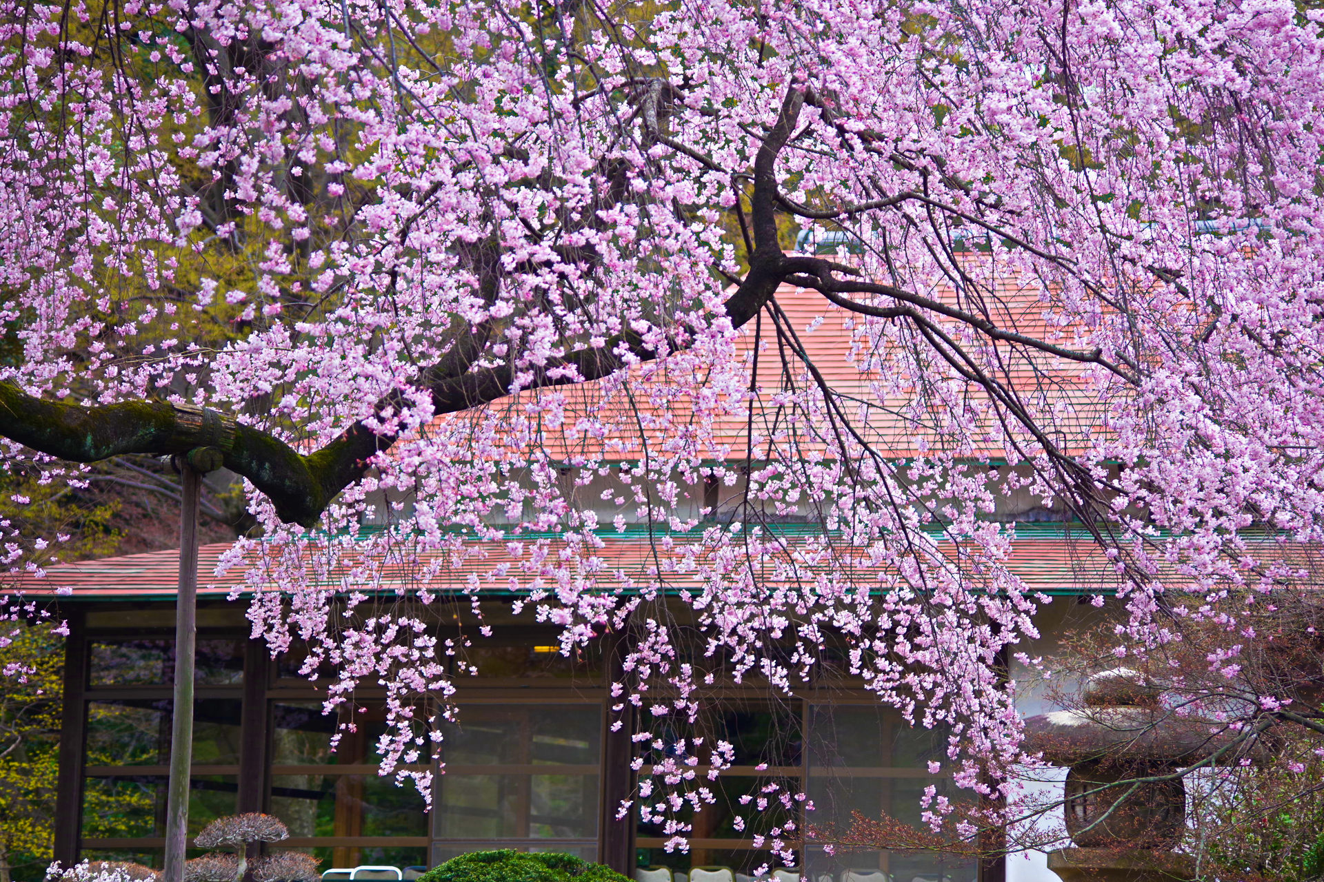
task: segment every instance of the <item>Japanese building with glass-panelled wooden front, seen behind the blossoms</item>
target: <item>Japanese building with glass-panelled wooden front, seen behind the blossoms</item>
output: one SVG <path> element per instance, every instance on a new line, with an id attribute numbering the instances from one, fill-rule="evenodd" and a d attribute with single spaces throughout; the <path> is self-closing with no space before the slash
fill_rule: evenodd
<path id="1" fill-rule="evenodd" d="M 1012 295 L 1006 301 L 1018 303 L 1031 316 L 1027 321 L 1041 320 L 1034 317 L 1042 309 L 1037 296 Z M 829 382 L 863 394 L 867 378 L 842 358 L 853 345 L 851 316 L 837 311 L 822 321 L 821 298 L 793 288 L 780 292 L 779 303 L 793 323 L 806 328 L 804 346 L 825 365 Z M 1055 394 L 1079 393 L 1071 378 L 1058 377 L 1054 386 Z M 870 426 L 896 456 L 916 452 L 927 431 L 906 422 L 899 410 L 875 414 Z M 745 426 L 732 421 L 726 430 L 736 440 Z M 557 436 L 544 443 L 564 461 L 563 471 L 571 472 L 587 440 Z M 601 459 L 613 439 L 593 443 L 600 447 L 592 455 Z M 622 461 L 634 455 L 628 443 L 609 454 Z M 988 451 L 978 456 L 990 469 L 1012 468 Z M 604 499 L 610 480 L 594 479 L 572 491 L 579 504 L 598 509 L 602 522 L 621 510 L 610 493 Z M 690 504 L 695 514 L 704 508 L 720 517 L 736 493 L 739 487 L 695 485 Z M 1051 513 L 1038 509 L 1029 493 L 1000 500 L 996 514 L 1017 532 L 1013 569 L 1045 594 L 1067 595 L 1041 615 L 1050 640 L 1071 621 L 1098 615 L 1072 600 L 1106 590 L 1102 561 L 1087 541 L 1075 538 L 1070 525 L 1046 522 Z M 768 520 L 765 529 L 816 529 L 794 514 Z M 654 547 L 650 536 L 655 538 L 655 529 L 604 530 L 601 554 L 612 562 L 608 569 L 645 573 L 651 566 L 646 559 Z M 608 718 L 608 688 L 622 647 L 608 637 L 573 657 L 563 656 L 555 628 L 535 624 L 531 615 L 514 615 L 510 596 L 493 587 L 482 594 L 493 636 L 475 639 L 465 653 L 471 670 L 457 670 L 459 722 L 448 725 L 446 771 L 434 778 L 433 808 L 426 812 L 416 789 L 377 775 L 375 744 L 385 725 L 384 693 L 371 686 L 356 692 L 352 706 L 340 710 L 352 715 L 356 731 L 332 751 L 340 721 L 323 714 L 324 681 L 299 676 L 297 648 L 273 659 L 263 641 L 250 639 L 242 598 L 254 586 L 244 583 L 237 570 L 212 575 L 225 547 L 201 549 L 205 587 L 197 616 L 191 822 L 196 829 L 218 815 L 270 812 L 291 833 L 281 846 L 308 849 L 323 860 L 323 867 L 432 866 L 462 852 L 508 846 L 572 852 L 626 873 L 643 866 L 678 871 L 726 866 L 751 874 L 767 860 L 759 836 L 784 826 L 788 816 L 769 809 L 739 829 L 740 793 L 771 784 L 808 793 L 814 812 L 808 816 L 802 807 L 796 809 L 800 817 L 790 820 L 798 830 L 806 822 L 849 825 L 853 812 L 918 822 L 920 795 L 935 783 L 927 764 L 945 751 L 944 733 L 907 726 L 899 714 L 882 709 L 845 665 L 831 664 L 830 648 L 814 680 L 789 698 L 775 700 L 756 682 L 727 684 L 714 703 L 716 710 L 700 723 L 700 734 L 732 743 L 735 768 L 715 785 L 718 804 L 695 819 L 690 853 L 667 852 L 662 830 L 633 816 L 617 819 L 636 774 L 630 731 L 613 731 Z M 502 549 L 493 543 L 483 571 L 499 562 Z M 70 590 L 58 599 L 70 625 L 56 842 L 61 861 L 87 857 L 160 865 L 176 566 L 175 551 L 135 554 L 54 566 L 44 581 L 26 586 L 45 592 Z M 455 603 L 430 607 L 438 632 L 465 621 L 470 599 L 463 587 L 470 575 L 477 570 L 444 573 L 453 581 Z M 441 598 L 448 595 L 445 584 L 432 588 Z M 228 599 L 232 594 L 237 598 Z M 690 615 L 679 602 L 669 611 L 682 625 Z M 1030 701 L 1033 713 L 1037 707 Z M 833 882 L 851 869 L 886 873 L 891 882 L 993 882 L 1005 874 L 1001 862 L 978 866 L 928 853 L 829 856 L 812 840 L 802 854 L 813 878 L 828 875 Z M 1013 865 L 1012 875 L 1030 878 L 1029 863 Z"/>

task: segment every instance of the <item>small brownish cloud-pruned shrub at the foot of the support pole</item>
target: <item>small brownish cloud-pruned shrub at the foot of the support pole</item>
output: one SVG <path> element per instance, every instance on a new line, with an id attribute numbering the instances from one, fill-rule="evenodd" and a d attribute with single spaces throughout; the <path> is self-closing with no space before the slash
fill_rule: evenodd
<path id="1" fill-rule="evenodd" d="M 257 882 L 312 882 L 319 861 L 302 852 L 278 852 L 249 858 L 249 845 L 279 842 L 290 832 L 279 819 L 260 812 L 218 817 L 197 834 L 193 845 L 216 849 L 184 865 L 185 882 L 241 882 L 252 871 Z M 233 850 L 225 850 L 233 849 Z"/>

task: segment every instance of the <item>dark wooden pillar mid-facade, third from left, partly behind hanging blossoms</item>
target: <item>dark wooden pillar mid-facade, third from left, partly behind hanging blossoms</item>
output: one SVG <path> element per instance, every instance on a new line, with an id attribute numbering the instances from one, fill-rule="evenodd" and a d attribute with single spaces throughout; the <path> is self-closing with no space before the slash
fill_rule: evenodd
<path id="1" fill-rule="evenodd" d="M 613 682 L 621 682 L 625 677 L 624 661 L 628 645 L 625 635 L 618 635 L 610 637 L 604 648 L 608 686 Z M 628 702 L 621 714 L 613 713 L 610 698 L 602 710 L 602 776 L 598 799 L 601 815 L 597 825 L 597 861 L 622 875 L 630 875 L 634 871 L 634 812 L 626 813 L 620 820 L 617 820 L 616 813 L 621 800 L 630 799 L 630 793 L 634 791 L 634 771 L 630 768 L 634 752 L 634 744 L 630 742 L 630 737 L 634 734 L 634 714 Z M 617 719 L 621 719 L 622 725 L 612 731 L 612 723 Z"/>

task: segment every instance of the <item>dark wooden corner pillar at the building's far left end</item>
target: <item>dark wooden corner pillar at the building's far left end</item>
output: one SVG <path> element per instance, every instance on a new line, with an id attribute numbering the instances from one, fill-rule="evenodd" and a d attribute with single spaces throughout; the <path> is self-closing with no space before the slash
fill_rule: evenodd
<path id="1" fill-rule="evenodd" d="M 64 697 L 60 715 L 60 776 L 56 783 L 54 858 L 64 866 L 78 861 L 82 830 L 82 779 L 87 743 L 87 631 L 79 607 L 62 610 L 69 623 L 65 639 Z"/>

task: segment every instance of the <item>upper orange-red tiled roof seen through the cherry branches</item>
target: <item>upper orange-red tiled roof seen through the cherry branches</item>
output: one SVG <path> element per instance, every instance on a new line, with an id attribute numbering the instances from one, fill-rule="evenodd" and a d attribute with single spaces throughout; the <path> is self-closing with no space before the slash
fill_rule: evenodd
<path id="1" fill-rule="evenodd" d="M 1055 307 L 1046 299 L 1043 284 L 1005 272 L 1000 275 L 996 264 L 981 257 L 970 258 L 970 262 L 972 271 L 985 275 L 984 282 L 990 294 L 982 301 L 989 317 L 1000 327 L 1059 345 L 1072 345 L 1072 329 L 1051 320 Z M 959 301 L 955 286 L 945 278 L 935 282 L 932 290 L 924 294 L 949 305 Z M 829 303 L 817 291 L 794 286 L 779 288 L 776 300 L 804 345 L 805 354 L 826 385 L 845 397 L 857 428 L 876 450 L 892 458 L 907 458 L 924 450 L 940 450 L 951 440 L 943 431 L 940 419 L 935 419 L 939 414 L 932 410 L 907 410 L 911 398 L 904 389 L 887 394 L 886 401 L 880 399 L 880 381 L 887 372 L 895 369 L 892 357 L 896 354 L 896 344 L 863 337 L 863 316 Z M 960 304 L 970 308 L 968 300 L 960 299 Z M 756 324 L 751 321 L 740 331 L 737 348 L 747 365 L 753 361 L 755 328 Z M 761 331 L 764 346 L 755 377 L 757 394 L 753 417 L 751 419 L 744 403 L 737 405 L 735 413 L 719 417 L 706 459 L 744 459 L 751 422 L 755 434 L 763 439 L 755 450 L 755 460 L 794 458 L 826 447 L 821 439 L 805 435 L 802 424 L 798 434 L 788 432 L 785 414 L 779 418 L 775 413 L 773 397 L 788 383 L 786 368 L 792 377 L 789 382 L 800 389 L 813 386 L 814 378 L 793 356 L 788 356 L 786 362 L 782 361 L 771 321 L 764 319 Z M 1016 389 L 1031 406 L 1054 407 L 1051 419 L 1046 422 L 1051 423 L 1055 443 L 1067 448 L 1076 447 L 1099 424 L 1098 417 L 1107 403 L 1087 387 L 1079 362 L 1037 350 L 1012 352 L 1005 345 L 1001 352 L 1004 361 L 998 378 Z M 666 362 L 650 365 L 647 370 L 649 380 L 639 380 L 642 372 L 634 372 L 634 394 L 629 397 L 620 390 L 609 391 L 609 383 L 604 381 L 526 391 L 471 411 L 442 417 L 433 423 L 432 431 L 455 432 L 458 440 L 478 426 L 485 426 L 486 431 L 498 436 L 520 435 L 519 430 L 514 430 L 519 426 L 528 432 L 531 443 L 523 451 L 510 451 L 512 455 L 540 448 L 553 461 L 563 463 L 573 463 L 579 458 L 634 460 L 641 455 L 645 435 L 651 442 L 650 450 L 655 452 L 666 450 L 667 440 L 692 431 L 698 424 L 692 399 L 667 389 L 669 382 L 678 380 L 681 382 L 677 385 L 682 389 L 692 383 L 675 377 L 674 369 Z M 564 402 L 564 422 L 555 426 L 549 421 L 539 423 L 544 419 L 543 405 L 553 398 Z M 612 431 L 605 438 L 584 431 L 576 423 L 585 417 L 592 417 L 594 423 L 605 422 Z M 992 423 L 989 428 L 992 430 Z M 968 451 L 968 455 L 1001 458 L 1004 448 L 990 438 L 982 448 Z"/>

